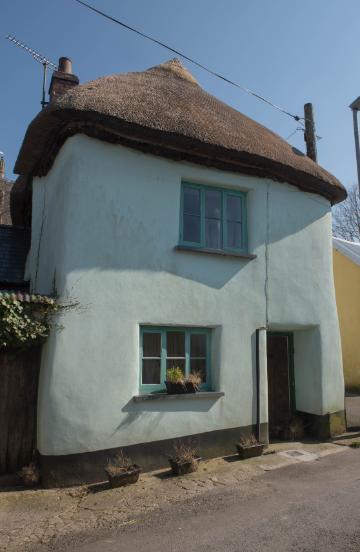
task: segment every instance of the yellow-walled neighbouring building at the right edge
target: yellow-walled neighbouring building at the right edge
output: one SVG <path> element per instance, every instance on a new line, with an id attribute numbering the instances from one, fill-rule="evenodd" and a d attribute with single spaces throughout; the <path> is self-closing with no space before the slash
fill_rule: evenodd
<path id="1" fill-rule="evenodd" d="M 360 243 L 333 238 L 345 387 L 360 391 Z"/>

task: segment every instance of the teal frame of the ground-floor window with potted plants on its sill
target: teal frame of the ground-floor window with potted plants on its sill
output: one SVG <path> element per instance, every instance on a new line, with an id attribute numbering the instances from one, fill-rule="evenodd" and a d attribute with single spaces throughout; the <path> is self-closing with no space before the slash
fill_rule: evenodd
<path id="1" fill-rule="evenodd" d="M 201 390 L 209 391 L 211 389 L 211 329 L 210 328 L 195 328 L 184 326 L 140 326 L 140 392 L 141 393 L 156 393 L 166 389 L 166 361 L 168 358 L 166 351 L 166 333 L 167 332 L 184 332 L 185 333 L 185 376 L 190 374 L 190 336 L 206 335 L 206 383 L 201 385 Z M 142 368 L 143 359 L 158 358 L 143 356 L 143 336 L 144 333 L 160 333 L 161 334 L 161 357 L 160 357 L 160 384 L 143 384 L 142 383 Z M 179 357 L 180 358 L 180 357 Z M 204 358 L 204 357 L 191 357 Z"/>

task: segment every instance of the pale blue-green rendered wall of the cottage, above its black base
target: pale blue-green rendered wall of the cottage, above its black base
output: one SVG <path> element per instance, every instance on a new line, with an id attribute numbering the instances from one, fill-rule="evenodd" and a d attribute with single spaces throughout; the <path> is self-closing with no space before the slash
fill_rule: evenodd
<path id="1" fill-rule="evenodd" d="M 256 259 L 174 250 L 182 179 L 248 191 L 249 251 Z M 67 140 L 33 189 L 33 288 L 56 289 L 82 306 L 61 317 L 64 329 L 44 347 L 42 454 L 255 423 L 255 331 L 267 322 L 304 330 L 308 352 L 299 356 L 295 340 L 295 369 L 306 411 L 342 409 L 326 200 L 286 184 L 176 163 L 81 135 Z M 212 380 L 225 396 L 134 403 L 141 324 L 213 327 Z M 315 341 L 312 335 L 306 340 L 306 328 L 315 326 Z M 315 391 L 305 370 L 316 374 Z M 264 404 L 261 413 L 265 422 Z"/>

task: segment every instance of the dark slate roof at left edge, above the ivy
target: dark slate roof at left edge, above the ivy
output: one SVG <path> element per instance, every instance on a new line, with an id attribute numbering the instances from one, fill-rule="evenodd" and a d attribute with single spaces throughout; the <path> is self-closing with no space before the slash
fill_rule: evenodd
<path id="1" fill-rule="evenodd" d="M 0 285 L 24 286 L 30 229 L 0 225 Z"/>

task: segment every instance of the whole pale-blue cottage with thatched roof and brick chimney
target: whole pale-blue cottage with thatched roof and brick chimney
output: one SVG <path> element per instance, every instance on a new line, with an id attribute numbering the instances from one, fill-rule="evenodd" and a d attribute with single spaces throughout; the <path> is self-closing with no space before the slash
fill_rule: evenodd
<path id="1" fill-rule="evenodd" d="M 32 179 L 31 289 L 82 306 L 43 348 L 45 483 L 99 480 L 120 447 L 157 467 L 186 436 L 232 453 L 295 413 L 343 431 L 340 182 L 177 60 L 83 85 L 60 62 L 15 167 Z M 173 366 L 200 392 L 166 394 Z"/>

